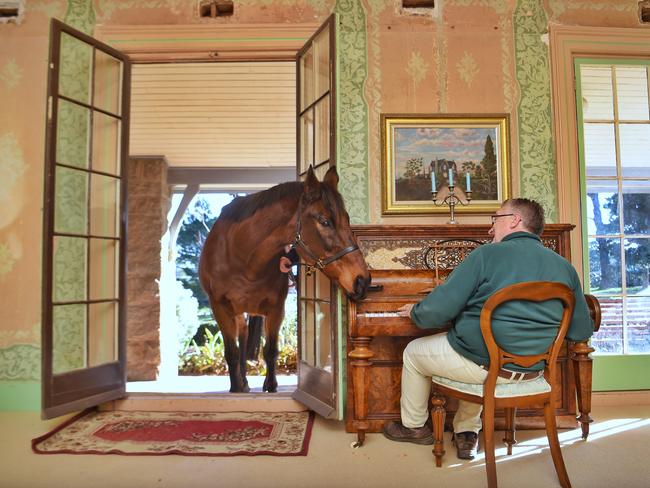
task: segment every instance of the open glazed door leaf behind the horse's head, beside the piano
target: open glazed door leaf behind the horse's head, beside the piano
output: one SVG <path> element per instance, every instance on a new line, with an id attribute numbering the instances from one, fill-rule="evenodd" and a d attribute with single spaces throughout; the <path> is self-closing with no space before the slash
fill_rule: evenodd
<path id="1" fill-rule="evenodd" d="M 336 21 L 332 15 L 297 55 L 297 166 L 320 180 L 336 164 Z M 338 288 L 319 270 L 300 266 L 298 387 L 293 398 L 318 414 L 337 417 L 339 386 Z"/>

